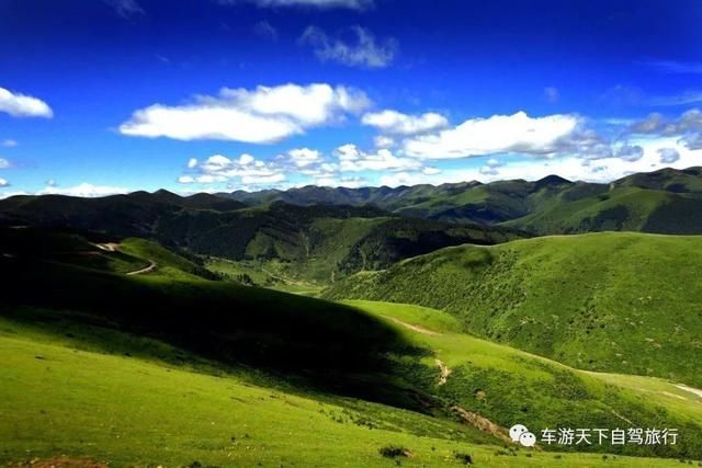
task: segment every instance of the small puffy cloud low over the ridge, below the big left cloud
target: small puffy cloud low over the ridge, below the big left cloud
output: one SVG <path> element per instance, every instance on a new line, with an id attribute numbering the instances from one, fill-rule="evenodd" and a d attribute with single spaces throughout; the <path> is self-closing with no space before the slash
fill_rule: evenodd
<path id="1" fill-rule="evenodd" d="M 181 184 L 238 182 L 245 185 L 274 184 L 285 180 L 282 168 L 244 153 L 239 158 L 213 155 L 191 168 L 192 174 L 178 178 Z"/>

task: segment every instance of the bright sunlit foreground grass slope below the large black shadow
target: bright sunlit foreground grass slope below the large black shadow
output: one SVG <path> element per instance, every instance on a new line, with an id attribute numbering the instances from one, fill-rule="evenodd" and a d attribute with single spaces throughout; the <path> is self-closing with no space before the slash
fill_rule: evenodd
<path id="1" fill-rule="evenodd" d="M 134 351 L 127 335 L 118 339 Z M 465 466 L 467 455 L 484 467 L 680 466 L 507 449 L 458 423 L 272 389 L 237 373 L 77 349 L 71 340 L 0 319 L 0 463 L 444 467 Z M 404 455 L 382 456 L 388 447 Z"/>

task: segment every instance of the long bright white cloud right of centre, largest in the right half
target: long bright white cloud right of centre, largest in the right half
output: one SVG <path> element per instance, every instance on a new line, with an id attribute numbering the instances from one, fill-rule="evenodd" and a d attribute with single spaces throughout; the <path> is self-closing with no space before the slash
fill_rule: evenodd
<path id="1" fill-rule="evenodd" d="M 457 127 L 405 140 L 408 156 L 422 159 L 453 159 L 517 152 L 554 155 L 571 136 L 580 121 L 575 115 L 555 114 L 532 118 L 524 112 L 471 118 Z"/>

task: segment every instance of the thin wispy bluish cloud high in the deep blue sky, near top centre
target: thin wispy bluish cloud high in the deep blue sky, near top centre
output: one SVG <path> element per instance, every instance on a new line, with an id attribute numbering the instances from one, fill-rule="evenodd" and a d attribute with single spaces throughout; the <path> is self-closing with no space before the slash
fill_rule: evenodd
<path id="1" fill-rule="evenodd" d="M 392 64 L 399 48 L 397 39 L 390 37 L 376 42 L 369 30 L 361 26 L 351 27 L 354 42 L 329 37 L 317 26 L 308 26 L 298 42 L 314 48 L 321 61 L 336 61 L 349 67 L 384 68 Z"/>

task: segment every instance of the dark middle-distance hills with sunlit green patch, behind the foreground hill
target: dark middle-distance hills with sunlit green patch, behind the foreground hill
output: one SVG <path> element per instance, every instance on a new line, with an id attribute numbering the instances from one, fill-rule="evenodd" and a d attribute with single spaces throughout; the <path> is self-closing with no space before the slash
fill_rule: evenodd
<path id="1" fill-rule="evenodd" d="M 180 197 L 165 191 L 104 198 L 12 197 L 0 201 L 0 225 L 145 237 L 200 255 L 247 261 L 258 273 L 274 271 L 317 284 L 448 246 L 523 237 L 512 228 L 407 219 L 372 206 L 276 202 L 242 208 L 213 195 Z"/>

